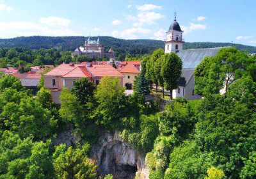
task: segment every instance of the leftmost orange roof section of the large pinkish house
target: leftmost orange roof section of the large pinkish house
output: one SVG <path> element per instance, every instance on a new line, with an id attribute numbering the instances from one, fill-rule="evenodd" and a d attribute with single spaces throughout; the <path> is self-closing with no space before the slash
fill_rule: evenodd
<path id="1" fill-rule="evenodd" d="M 56 68 L 52 69 L 48 73 L 44 74 L 44 76 L 63 76 L 70 72 L 71 70 L 74 70 L 77 66 L 81 66 L 80 64 L 74 64 L 70 66 L 69 64 L 61 64 L 57 66 Z"/>

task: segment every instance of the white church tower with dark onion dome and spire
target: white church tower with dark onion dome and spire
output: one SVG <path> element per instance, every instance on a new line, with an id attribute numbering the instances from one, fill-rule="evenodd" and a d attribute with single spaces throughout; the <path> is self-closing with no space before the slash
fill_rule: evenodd
<path id="1" fill-rule="evenodd" d="M 184 39 L 182 39 L 183 31 L 176 20 L 176 12 L 174 13 L 174 20 L 166 32 L 165 53 L 179 52 L 182 50 Z"/>

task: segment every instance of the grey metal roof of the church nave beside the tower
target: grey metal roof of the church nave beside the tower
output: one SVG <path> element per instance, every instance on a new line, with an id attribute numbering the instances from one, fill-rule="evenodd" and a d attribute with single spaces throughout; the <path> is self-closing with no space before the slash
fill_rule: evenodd
<path id="1" fill-rule="evenodd" d="M 189 49 L 182 50 L 177 52 L 178 56 L 182 59 L 183 68 L 196 68 L 197 65 L 206 57 L 206 56 L 216 56 L 216 54 L 222 48 L 227 47 L 216 47 L 216 48 L 207 48 L 207 49 Z"/>

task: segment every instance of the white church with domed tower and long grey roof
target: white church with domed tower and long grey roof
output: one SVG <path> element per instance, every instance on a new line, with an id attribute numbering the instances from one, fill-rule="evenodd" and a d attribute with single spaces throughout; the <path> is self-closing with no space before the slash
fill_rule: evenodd
<path id="1" fill-rule="evenodd" d="M 216 56 L 220 49 L 225 47 L 183 50 L 184 39 L 182 38 L 182 33 L 183 31 L 180 29 L 175 15 L 171 26 L 166 32 L 164 49 L 164 53 L 175 52 L 182 59 L 182 75 L 179 80 L 179 87 L 173 89 L 173 98 L 182 97 L 187 100 L 196 100 L 202 98 L 194 92 L 194 70 L 196 66 L 199 65 L 206 56 Z"/>

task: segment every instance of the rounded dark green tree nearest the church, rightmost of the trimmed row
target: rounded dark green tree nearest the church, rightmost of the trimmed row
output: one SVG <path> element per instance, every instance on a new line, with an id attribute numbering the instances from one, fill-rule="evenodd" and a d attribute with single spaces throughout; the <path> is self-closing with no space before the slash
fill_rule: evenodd
<path id="1" fill-rule="evenodd" d="M 181 76 L 182 61 L 175 53 L 164 54 L 161 68 L 161 75 L 164 79 L 166 89 L 170 90 L 172 100 L 172 90 L 178 87 L 178 81 Z"/>

